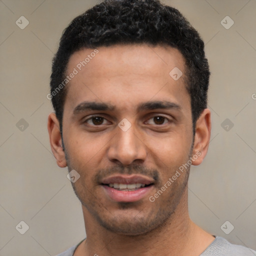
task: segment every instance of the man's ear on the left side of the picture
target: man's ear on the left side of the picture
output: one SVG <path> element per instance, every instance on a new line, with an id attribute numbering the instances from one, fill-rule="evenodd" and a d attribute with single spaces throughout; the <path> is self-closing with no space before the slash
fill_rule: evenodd
<path id="1" fill-rule="evenodd" d="M 62 148 L 61 134 L 59 129 L 59 122 L 54 113 L 48 116 L 48 133 L 50 139 L 51 151 L 56 158 L 59 167 L 66 167 L 65 153 Z"/>

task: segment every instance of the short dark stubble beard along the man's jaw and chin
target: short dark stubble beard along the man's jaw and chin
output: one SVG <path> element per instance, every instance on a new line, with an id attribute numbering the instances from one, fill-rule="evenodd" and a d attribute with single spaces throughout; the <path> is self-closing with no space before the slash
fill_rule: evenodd
<path id="1" fill-rule="evenodd" d="M 71 169 L 72 168 L 69 165 L 68 170 L 70 171 Z M 151 207 L 150 211 L 146 210 L 146 212 L 144 212 L 144 208 L 142 208 L 140 212 L 131 211 L 130 209 L 132 207 L 134 208 L 134 205 L 137 202 L 117 202 L 118 211 L 120 212 L 120 210 L 123 210 L 124 214 L 114 214 L 111 210 L 105 208 L 103 204 L 97 201 L 97 198 L 93 195 L 92 191 L 89 191 L 84 186 L 77 187 L 75 183 L 71 184 L 81 204 L 106 230 L 123 235 L 141 235 L 156 231 L 156 229 L 161 230 L 167 223 L 171 222 L 175 209 L 181 202 L 180 199 L 186 190 L 189 168 L 186 172 L 182 173 L 182 175 L 185 176 L 181 183 L 178 183 L 176 182 L 177 180 L 175 180 L 173 184 L 171 184 L 171 186 L 174 186 L 174 189 L 168 187 L 164 191 L 165 193 L 170 189 L 169 196 L 158 204 L 160 206 L 156 206 L 154 205 L 154 202 L 148 200 L 148 205 L 144 206 L 144 208 L 149 206 Z M 163 184 L 157 186 L 156 190 L 160 189 L 162 185 Z M 164 195 L 160 195 L 156 200 L 161 200 L 161 196 Z M 89 199 L 85 200 L 85 198 Z"/>

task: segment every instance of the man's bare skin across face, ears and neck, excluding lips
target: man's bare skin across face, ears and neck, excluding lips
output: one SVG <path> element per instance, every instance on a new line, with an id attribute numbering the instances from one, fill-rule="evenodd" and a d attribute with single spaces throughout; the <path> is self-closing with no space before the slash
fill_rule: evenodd
<path id="1" fill-rule="evenodd" d="M 82 49 L 72 54 L 67 73 L 92 51 Z M 190 156 L 197 154 L 193 165 L 202 162 L 210 138 L 210 111 L 206 108 L 199 116 L 193 137 L 184 59 L 177 49 L 135 44 L 99 47 L 98 51 L 67 85 L 62 140 L 55 114 L 48 117 L 51 149 L 58 166 L 80 174 L 72 185 L 81 201 L 87 238 L 74 255 L 199 255 L 214 237 L 189 218 L 189 168 L 154 202 L 148 196 Z M 169 75 L 174 67 L 183 72 L 176 81 Z M 113 108 L 91 110 L 80 105 L 77 110 L 84 101 L 103 102 Z M 138 109 L 149 101 L 177 106 Z M 105 119 L 96 122 L 98 119 L 89 119 L 92 115 Z M 131 124 L 127 131 L 118 127 L 123 118 Z M 139 201 L 116 202 L 99 183 L 112 173 L 141 173 L 154 177 L 155 183 Z"/>

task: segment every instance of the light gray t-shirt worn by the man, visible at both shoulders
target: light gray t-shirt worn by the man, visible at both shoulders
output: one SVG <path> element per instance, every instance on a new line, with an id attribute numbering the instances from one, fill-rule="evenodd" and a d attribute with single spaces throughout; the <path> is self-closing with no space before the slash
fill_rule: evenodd
<path id="1" fill-rule="evenodd" d="M 72 246 L 57 256 L 72 256 L 78 245 Z M 256 256 L 256 251 L 242 245 L 231 244 L 223 237 L 216 236 L 200 256 Z"/>

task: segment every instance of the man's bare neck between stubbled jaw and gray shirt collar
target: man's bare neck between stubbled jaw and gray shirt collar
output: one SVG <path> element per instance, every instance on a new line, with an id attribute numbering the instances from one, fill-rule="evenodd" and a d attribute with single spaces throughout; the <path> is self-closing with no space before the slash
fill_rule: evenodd
<path id="1" fill-rule="evenodd" d="M 139 235 L 113 233 L 102 227 L 83 207 L 86 240 L 78 246 L 79 255 L 199 255 L 214 239 L 189 218 L 187 189 L 166 223 Z"/>

